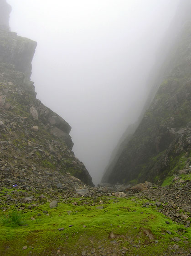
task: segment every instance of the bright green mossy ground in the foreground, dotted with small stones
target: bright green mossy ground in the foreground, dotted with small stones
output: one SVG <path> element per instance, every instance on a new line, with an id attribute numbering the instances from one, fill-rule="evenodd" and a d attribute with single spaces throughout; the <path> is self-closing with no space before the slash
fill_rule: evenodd
<path id="1" fill-rule="evenodd" d="M 132 256 L 163 255 L 170 246 L 175 248 L 172 237 L 180 238 L 176 242 L 179 248 L 189 250 L 191 229 L 167 219 L 155 204 L 143 207 L 145 202 L 136 197 L 79 197 L 60 200 L 52 209 L 49 203 L 32 209 L 25 204 L 25 209 L 19 211 L 21 226 L 0 224 L 0 255 L 67 256 L 82 255 L 83 251 L 86 255 L 93 251 L 93 255 L 104 255 L 99 252 L 103 248 L 111 255 L 113 251 L 117 255 L 122 255 L 121 251 Z M 14 207 L 1 207 L 2 220 Z"/>

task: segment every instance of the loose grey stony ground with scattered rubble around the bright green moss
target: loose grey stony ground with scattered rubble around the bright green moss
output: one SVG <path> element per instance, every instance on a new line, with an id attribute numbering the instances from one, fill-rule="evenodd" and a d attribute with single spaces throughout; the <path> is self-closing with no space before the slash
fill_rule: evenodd
<path id="1" fill-rule="evenodd" d="M 34 169 L 34 170 L 33 170 Z M 190 169 L 187 170 L 190 172 Z M 190 227 L 191 220 L 191 181 L 181 179 L 177 177 L 175 181 L 166 187 L 160 187 L 150 182 L 145 182 L 138 184 L 134 187 L 129 187 L 129 185 L 115 185 L 115 186 L 103 186 L 103 187 L 90 187 L 85 185 L 82 181 L 77 179 L 74 176 L 71 176 L 70 173 L 62 175 L 59 172 L 51 172 L 44 170 L 36 170 L 36 168 L 31 168 L 31 172 L 27 172 L 27 175 L 24 170 L 16 173 L 16 179 L 14 173 L 11 173 L 10 170 L 1 171 L 1 191 L 3 194 L 0 197 L 0 204 L 2 211 L 7 211 L 8 208 L 14 206 L 20 211 L 32 210 L 36 207 L 40 207 L 47 202 L 50 203 L 50 208 L 57 207 L 57 203 L 70 202 L 73 205 L 78 205 L 80 202 L 81 206 L 96 206 L 98 204 L 99 209 L 104 208 L 104 204 L 107 203 L 109 198 L 115 198 L 118 200 L 120 197 L 131 198 L 132 202 L 143 202 L 140 206 L 144 209 L 155 207 L 159 213 L 163 213 L 169 219 L 173 220 L 175 223 L 182 224 L 185 229 Z M 5 175 L 7 179 L 5 179 Z M 10 189 L 12 192 L 10 193 Z M 8 192 L 9 191 L 9 192 Z M 100 198 L 105 198 L 103 201 L 99 201 Z M 80 200 L 80 201 L 78 201 Z M 91 203 L 90 203 L 91 202 Z M 48 211 L 44 214 L 49 214 Z M 166 221 L 166 224 L 170 224 Z M 72 223 L 71 223 L 72 226 Z M 142 227 L 144 230 L 144 226 Z M 61 229 L 62 230 L 62 227 Z M 152 234 L 149 231 L 146 232 L 148 237 Z M 166 231 L 171 235 L 170 229 Z M 167 233 L 161 232 L 162 236 L 165 236 Z M 182 255 L 190 256 L 191 252 L 189 250 L 184 250 L 182 246 L 179 245 L 181 239 L 185 244 L 191 242 L 190 237 L 187 237 L 182 233 L 182 231 L 177 231 L 177 234 L 180 236 L 171 236 L 168 251 L 166 251 L 164 256 L 169 255 Z M 82 248 L 81 254 L 71 253 L 71 254 L 60 254 L 59 248 L 56 254 L 50 255 L 82 255 L 82 256 L 118 256 L 118 255 L 136 255 L 128 254 L 129 249 L 125 246 L 119 246 L 120 242 L 119 236 L 110 234 L 112 243 L 108 245 L 106 242 L 100 241 L 97 247 L 95 245 L 85 245 Z M 109 236 L 110 236 L 109 235 Z M 181 239 L 180 239 L 181 237 Z M 124 239 L 124 238 L 123 238 Z M 154 241 L 158 243 L 157 241 Z M 132 246 L 139 245 L 134 244 L 133 240 L 130 241 Z M 31 254 L 32 255 L 32 254 Z M 137 254 L 137 256 L 139 253 Z"/>

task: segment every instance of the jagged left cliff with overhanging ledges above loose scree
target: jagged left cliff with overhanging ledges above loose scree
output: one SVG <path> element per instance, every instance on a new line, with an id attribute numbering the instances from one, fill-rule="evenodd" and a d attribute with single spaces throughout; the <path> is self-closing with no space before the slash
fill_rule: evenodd
<path id="1" fill-rule="evenodd" d="M 4 0 L 1 5 L 10 10 Z M 70 125 L 36 99 L 30 80 L 36 42 L 9 32 L 9 11 L 5 14 L 0 18 L 1 181 L 19 183 L 23 172 L 29 178 L 36 170 L 55 176 L 58 171 L 93 186 L 85 166 L 71 150 Z"/>

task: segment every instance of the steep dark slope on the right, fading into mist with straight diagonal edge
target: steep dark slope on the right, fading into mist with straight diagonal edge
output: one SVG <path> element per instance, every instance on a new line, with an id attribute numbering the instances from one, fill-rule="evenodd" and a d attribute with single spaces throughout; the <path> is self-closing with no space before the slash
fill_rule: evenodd
<path id="1" fill-rule="evenodd" d="M 188 3 L 186 2 L 186 5 Z M 188 6 L 190 9 L 190 4 Z M 188 12 L 186 12 L 188 14 Z M 189 12 L 190 13 L 190 12 Z M 191 22 L 185 18 L 168 59 L 159 70 L 163 82 L 136 130 L 108 166 L 103 182 L 161 183 L 191 163 Z M 155 91 L 157 81 L 151 91 Z M 152 92 L 153 93 L 153 92 Z M 150 95 L 152 97 L 152 94 Z M 149 102 L 149 101 L 148 101 Z M 147 104 L 148 104 L 147 102 Z"/>

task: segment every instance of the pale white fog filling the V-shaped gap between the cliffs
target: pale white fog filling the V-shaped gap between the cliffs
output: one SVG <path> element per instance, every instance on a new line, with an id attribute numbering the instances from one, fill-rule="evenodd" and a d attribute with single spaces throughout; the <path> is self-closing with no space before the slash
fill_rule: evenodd
<path id="1" fill-rule="evenodd" d="M 71 126 L 94 184 L 144 106 L 179 0 L 7 0 L 11 31 L 35 40 L 37 98 Z"/>

